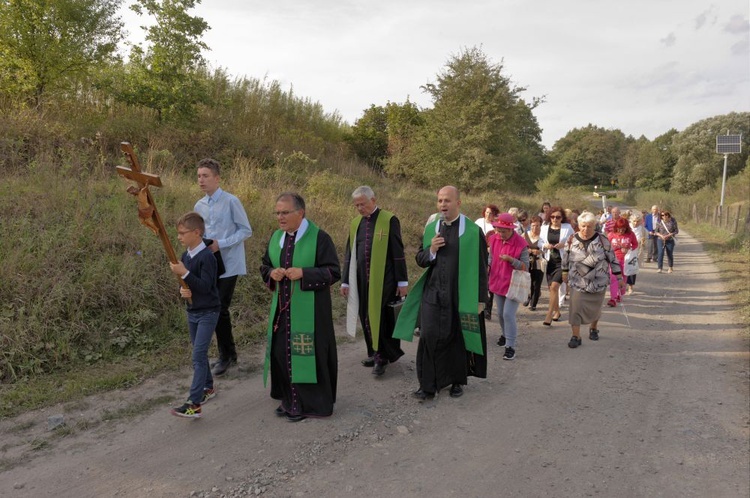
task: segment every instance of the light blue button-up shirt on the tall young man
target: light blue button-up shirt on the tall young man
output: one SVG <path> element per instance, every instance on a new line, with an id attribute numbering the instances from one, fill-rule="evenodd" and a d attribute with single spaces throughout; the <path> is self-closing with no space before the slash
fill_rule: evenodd
<path id="1" fill-rule="evenodd" d="M 198 200 L 195 211 L 206 222 L 204 236 L 219 243 L 226 269 L 220 278 L 245 275 L 244 241 L 253 235 L 253 229 L 240 200 L 219 188 L 213 195 Z"/>

